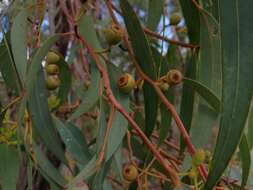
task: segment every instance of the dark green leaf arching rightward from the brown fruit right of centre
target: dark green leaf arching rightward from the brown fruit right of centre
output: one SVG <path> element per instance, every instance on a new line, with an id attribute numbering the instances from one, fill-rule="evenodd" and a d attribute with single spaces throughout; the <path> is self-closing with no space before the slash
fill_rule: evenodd
<path id="1" fill-rule="evenodd" d="M 201 95 L 202 98 L 204 98 L 217 112 L 220 111 L 219 98 L 207 86 L 190 78 L 184 78 L 184 85 Z"/>

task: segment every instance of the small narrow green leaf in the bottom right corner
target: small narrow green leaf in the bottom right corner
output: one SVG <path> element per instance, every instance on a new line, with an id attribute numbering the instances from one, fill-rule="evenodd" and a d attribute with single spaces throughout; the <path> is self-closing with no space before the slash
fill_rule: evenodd
<path id="1" fill-rule="evenodd" d="M 248 141 L 245 134 L 242 136 L 239 148 L 240 148 L 240 157 L 241 157 L 241 162 L 242 162 L 241 187 L 243 188 L 247 184 L 247 180 L 250 174 L 250 165 L 251 165 L 250 149 L 249 149 Z"/>

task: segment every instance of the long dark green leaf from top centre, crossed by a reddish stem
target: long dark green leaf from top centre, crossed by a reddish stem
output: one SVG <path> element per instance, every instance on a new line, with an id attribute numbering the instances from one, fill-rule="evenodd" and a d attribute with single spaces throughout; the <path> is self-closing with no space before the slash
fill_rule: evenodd
<path id="1" fill-rule="evenodd" d="M 135 58 L 144 73 L 155 80 L 157 77 L 155 62 L 140 21 L 127 0 L 121 0 L 120 6 Z M 143 85 L 143 93 L 145 103 L 145 133 L 149 136 L 153 132 L 156 123 L 158 97 L 152 86 L 146 82 Z"/>

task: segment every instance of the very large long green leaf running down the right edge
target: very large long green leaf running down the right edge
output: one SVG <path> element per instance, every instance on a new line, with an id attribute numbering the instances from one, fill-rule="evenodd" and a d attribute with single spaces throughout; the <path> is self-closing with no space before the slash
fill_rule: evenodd
<path id="1" fill-rule="evenodd" d="M 240 142 L 253 92 L 253 1 L 220 0 L 222 50 L 221 124 L 212 169 L 205 189 L 211 190 Z"/>

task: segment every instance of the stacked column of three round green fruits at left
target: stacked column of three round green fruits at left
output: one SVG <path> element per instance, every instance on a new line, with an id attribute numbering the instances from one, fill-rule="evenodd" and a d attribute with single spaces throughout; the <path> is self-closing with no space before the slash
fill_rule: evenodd
<path id="1" fill-rule="evenodd" d="M 45 70 L 47 73 L 46 85 L 48 90 L 55 90 L 59 87 L 61 81 L 59 79 L 59 66 L 60 56 L 50 51 L 47 54 Z"/>

